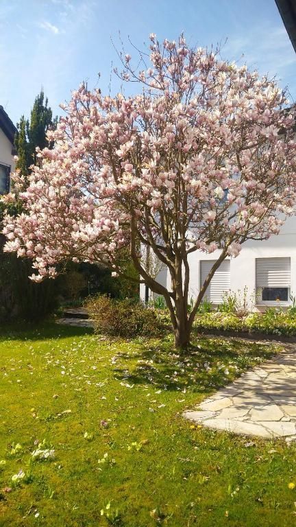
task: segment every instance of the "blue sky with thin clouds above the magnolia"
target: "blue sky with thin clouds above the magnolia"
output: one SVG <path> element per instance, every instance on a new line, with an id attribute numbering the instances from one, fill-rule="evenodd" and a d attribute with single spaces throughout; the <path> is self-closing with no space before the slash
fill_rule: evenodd
<path id="1" fill-rule="evenodd" d="M 132 56 L 128 36 L 143 49 L 151 32 L 221 42 L 223 58 L 276 74 L 296 100 L 296 54 L 274 0 L 0 0 L 0 104 L 16 123 L 41 86 L 54 113 L 82 80 L 108 91 L 119 30 Z"/>

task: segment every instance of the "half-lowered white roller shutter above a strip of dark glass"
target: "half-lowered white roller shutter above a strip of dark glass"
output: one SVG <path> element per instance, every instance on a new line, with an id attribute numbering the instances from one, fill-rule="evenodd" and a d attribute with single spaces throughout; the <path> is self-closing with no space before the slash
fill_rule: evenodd
<path id="1" fill-rule="evenodd" d="M 256 258 L 258 288 L 289 288 L 290 258 Z"/>

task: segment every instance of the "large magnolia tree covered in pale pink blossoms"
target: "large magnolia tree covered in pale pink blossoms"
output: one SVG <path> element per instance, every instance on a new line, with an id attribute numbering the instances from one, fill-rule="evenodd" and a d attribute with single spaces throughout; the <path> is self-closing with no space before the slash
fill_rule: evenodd
<path id="1" fill-rule="evenodd" d="M 25 212 L 5 218 L 5 250 L 34 259 L 32 279 L 41 281 L 65 259 L 103 261 L 120 274 L 116 253 L 129 246 L 140 282 L 165 298 L 176 346 L 186 347 L 221 262 L 248 239 L 277 234 L 293 213 L 295 121 L 273 80 L 224 62 L 218 50 L 154 34 L 149 47 L 143 71 L 121 54 L 121 75 L 137 82 L 138 95 L 103 97 L 85 84 L 73 92 L 48 134 L 55 147 L 38 152 L 19 194 Z M 171 288 L 149 274 L 141 246 L 167 266 Z M 196 250 L 219 257 L 188 313 Z"/>

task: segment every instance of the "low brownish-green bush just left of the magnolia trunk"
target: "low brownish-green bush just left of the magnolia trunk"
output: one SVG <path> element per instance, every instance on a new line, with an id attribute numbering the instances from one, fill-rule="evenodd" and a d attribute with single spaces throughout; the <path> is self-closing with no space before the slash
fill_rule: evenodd
<path id="1" fill-rule="evenodd" d="M 153 336 L 160 324 L 153 309 L 133 298 L 116 300 L 106 295 L 89 298 L 86 307 L 94 320 L 96 333 L 110 336 Z"/>

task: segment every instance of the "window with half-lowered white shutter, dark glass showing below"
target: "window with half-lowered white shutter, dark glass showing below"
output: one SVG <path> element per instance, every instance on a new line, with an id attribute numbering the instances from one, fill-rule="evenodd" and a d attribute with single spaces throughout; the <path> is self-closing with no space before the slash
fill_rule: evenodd
<path id="1" fill-rule="evenodd" d="M 290 267 L 290 258 L 256 259 L 258 303 L 288 302 L 291 287 Z"/>

